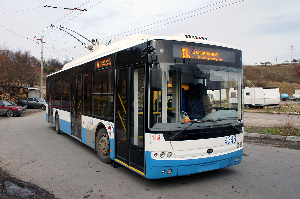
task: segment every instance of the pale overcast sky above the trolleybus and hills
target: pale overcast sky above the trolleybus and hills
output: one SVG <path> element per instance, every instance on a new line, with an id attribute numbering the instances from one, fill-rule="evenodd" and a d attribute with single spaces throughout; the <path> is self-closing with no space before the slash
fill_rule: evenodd
<path id="1" fill-rule="evenodd" d="M 35 40 L 39 42 L 36 43 L 31 39 L 43 38 L 45 59 L 54 57 L 63 62 L 63 59 L 77 59 L 89 53 L 67 33 L 49 27 L 53 24 L 89 40 L 98 38 L 102 45 L 138 32 L 152 36 L 185 33 L 240 48 L 245 65 L 290 61 L 291 45 L 294 59 L 300 59 L 299 0 L 221 1 L 1 0 L 0 47 L 21 48 L 41 58 L 41 41 Z M 44 7 L 46 5 L 58 8 Z M 87 11 L 64 9 L 75 7 Z M 153 23 L 156 24 L 151 25 Z M 76 37 L 88 44 L 84 38 Z"/>

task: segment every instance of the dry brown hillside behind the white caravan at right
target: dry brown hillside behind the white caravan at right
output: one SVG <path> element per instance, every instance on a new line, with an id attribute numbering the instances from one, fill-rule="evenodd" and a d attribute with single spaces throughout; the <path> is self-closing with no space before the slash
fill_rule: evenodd
<path id="1" fill-rule="evenodd" d="M 279 92 L 292 95 L 300 89 L 299 63 L 282 63 L 274 65 L 243 66 L 244 78 L 256 87 L 278 87 Z M 245 80 L 245 85 L 251 87 Z"/>

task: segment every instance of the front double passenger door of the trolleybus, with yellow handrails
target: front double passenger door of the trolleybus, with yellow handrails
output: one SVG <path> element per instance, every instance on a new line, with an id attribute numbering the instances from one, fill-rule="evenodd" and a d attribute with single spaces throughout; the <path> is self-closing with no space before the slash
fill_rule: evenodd
<path id="1" fill-rule="evenodd" d="M 144 74 L 140 64 L 116 72 L 116 159 L 144 172 Z"/>

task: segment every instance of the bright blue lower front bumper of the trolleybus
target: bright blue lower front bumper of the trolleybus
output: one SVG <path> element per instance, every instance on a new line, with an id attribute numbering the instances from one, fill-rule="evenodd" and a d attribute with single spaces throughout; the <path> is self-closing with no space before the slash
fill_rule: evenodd
<path id="1" fill-rule="evenodd" d="M 215 157 L 188 160 L 158 160 L 151 158 L 151 153 L 146 151 L 146 178 L 156 179 L 182 176 L 225 168 L 240 163 L 242 155 L 243 149 Z M 238 158 L 237 162 L 235 162 L 235 158 Z M 171 174 L 167 174 L 168 169 L 172 169 Z"/>

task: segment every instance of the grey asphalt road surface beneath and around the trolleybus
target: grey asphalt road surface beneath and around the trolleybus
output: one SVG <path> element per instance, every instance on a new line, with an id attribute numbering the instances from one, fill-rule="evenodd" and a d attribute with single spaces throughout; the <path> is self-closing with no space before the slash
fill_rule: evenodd
<path id="1" fill-rule="evenodd" d="M 102 163 L 88 146 L 66 134 L 56 134 L 54 127 L 46 122 L 44 110 L 32 112 L 37 113 L 0 117 L 0 167 L 16 179 L 49 191 L 48 196 L 52 198 L 55 195 L 61 199 L 276 199 L 299 198 L 300 195 L 300 153 L 296 150 L 299 142 L 295 142 L 294 147 L 286 147 L 283 145 L 286 141 L 263 143 L 259 142 L 262 139 L 245 138 L 239 165 L 189 176 L 147 180 L 127 168 Z M 2 187 L 3 184 L 0 183 Z M 48 199 L 48 196 L 35 198 Z"/>

